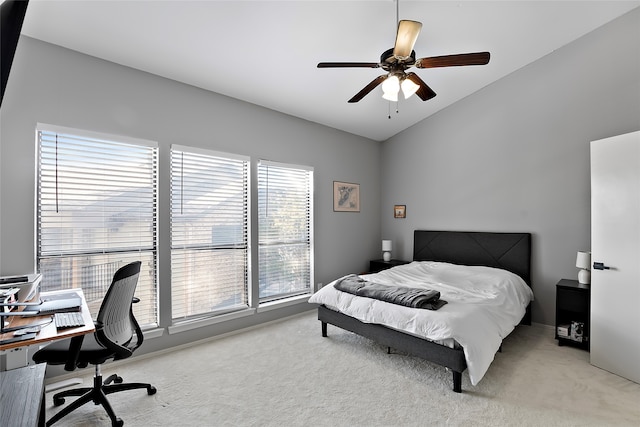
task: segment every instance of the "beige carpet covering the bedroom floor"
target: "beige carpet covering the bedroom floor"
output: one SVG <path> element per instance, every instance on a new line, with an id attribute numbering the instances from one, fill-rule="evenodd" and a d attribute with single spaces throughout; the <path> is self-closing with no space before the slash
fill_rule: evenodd
<path id="1" fill-rule="evenodd" d="M 117 368 L 117 369 L 116 369 Z M 144 390 L 110 396 L 126 426 L 638 426 L 640 385 L 558 347 L 553 329 L 519 327 L 480 383 L 329 326 L 315 312 L 129 363 L 107 365 Z M 85 384 L 90 384 L 91 369 Z M 47 417 L 57 408 L 51 393 Z M 85 405 L 56 425 L 108 426 Z"/>

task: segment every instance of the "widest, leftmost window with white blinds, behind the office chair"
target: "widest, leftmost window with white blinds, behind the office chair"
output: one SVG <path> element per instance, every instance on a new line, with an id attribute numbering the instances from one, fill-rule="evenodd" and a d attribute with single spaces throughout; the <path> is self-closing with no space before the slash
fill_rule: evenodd
<path id="1" fill-rule="evenodd" d="M 157 323 L 157 146 L 38 125 L 41 289 L 82 288 L 92 314 L 116 270 L 142 261 L 134 312 Z"/>

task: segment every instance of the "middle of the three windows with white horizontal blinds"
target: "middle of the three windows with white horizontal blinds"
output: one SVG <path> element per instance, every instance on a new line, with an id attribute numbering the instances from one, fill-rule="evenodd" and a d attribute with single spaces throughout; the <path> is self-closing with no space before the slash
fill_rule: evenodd
<path id="1" fill-rule="evenodd" d="M 247 308 L 249 160 L 171 149 L 173 319 Z"/>

